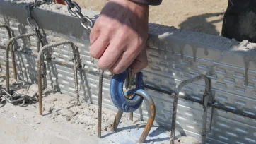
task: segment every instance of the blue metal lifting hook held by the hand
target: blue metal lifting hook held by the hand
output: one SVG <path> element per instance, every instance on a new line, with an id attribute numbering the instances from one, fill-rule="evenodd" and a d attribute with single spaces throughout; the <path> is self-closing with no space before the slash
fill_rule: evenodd
<path id="1" fill-rule="evenodd" d="M 123 73 L 114 75 L 110 82 L 110 97 L 115 107 L 122 112 L 134 112 L 143 102 L 143 97 L 139 95 L 135 95 L 132 99 L 125 97 L 123 84 L 128 73 L 129 71 L 126 70 Z M 136 88 L 144 90 L 143 74 L 141 72 L 136 74 L 135 84 Z"/>

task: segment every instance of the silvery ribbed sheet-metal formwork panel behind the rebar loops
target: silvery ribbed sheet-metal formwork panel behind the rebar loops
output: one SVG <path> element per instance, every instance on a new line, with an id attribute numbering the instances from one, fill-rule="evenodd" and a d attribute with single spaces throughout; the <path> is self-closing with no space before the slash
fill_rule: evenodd
<path id="1" fill-rule="evenodd" d="M 14 35 L 21 35 L 32 30 L 25 23 L 26 11 L 23 6 L 8 3 L 0 5 L 0 25 L 7 24 L 13 30 Z M 13 9 L 15 8 L 15 10 Z M 16 11 L 18 16 L 8 11 Z M 53 11 L 53 12 L 51 12 Z M 47 41 L 51 44 L 60 40 L 71 40 L 78 47 L 83 69 L 78 71 L 79 95 L 87 102 L 98 104 L 98 68 L 97 61 L 90 58 L 88 35 L 82 30 L 77 19 L 66 16 L 57 10 L 45 12 L 45 9 L 36 9 L 35 16 L 40 16 L 40 25 L 45 28 Z M 85 14 L 87 15 L 87 14 Z M 1 20 L 4 19 L 4 20 Z M 51 25 L 47 19 L 52 20 Z M 8 21 L 8 23 L 6 23 Z M 72 21 L 73 23 L 69 23 Z M 65 22 L 65 23 L 64 23 Z M 68 29 L 76 28 L 71 31 Z M 156 31 L 156 29 L 160 29 Z M 238 109 L 246 114 L 256 114 L 256 68 L 250 64 L 249 71 L 245 75 L 245 63 L 243 54 L 228 52 L 227 49 L 237 44 L 234 40 L 211 35 L 199 35 L 194 32 L 182 32 L 173 28 L 159 25 L 150 25 L 150 35 L 147 43 L 149 65 L 143 70 L 144 83 L 157 86 L 161 90 L 175 90 L 182 80 L 187 80 L 199 74 L 211 78 L 211 92 L 217 104 L 231 109 Z M 66 31 L 69 31 L 65 33 Z M 79 32 L 78 32 L 79 31 Z M 169 32 L 163 34 L 164 32 Z M 194 38 L 197 37 L 197 41 Z M 192 37 L 191 39 L 186 39 Z M 216 43 L 207 44 L 211 39 Z M 198 42 L 201 40 L 202 42 Z M 203 42 L 206 41 L 206 42 Z M 6 44 L 8 36 L 5 30 L 0 28 L 0 44 Z M 214 42 L 214 41 L 211 41 Z M 219 49 L 218 47 L 223 47 Z M 71 48 L 68 45 L 52 48 L 54 61 L 46 61 L 47 88 L 58 89 L 61 92 L 74 95 L 74 71 L 71 67 Z M 30 37 L 18 40 L 17 50 L 23 50 L 37 54 L 37 39 Z M 4 50 L 0 50 L 1 68 L 4 70 Z M 9 59 L 11 63 L 11 59 Z M 71 66 L 64 66 L 66 63 Z M 10 64 L 11 66 L 11 64 Z M 16 52 L 16 66 L 18 78 L 30 83 L 37 83 L 37 57 L 22 52 Z M 88 73 L 88 70 L 90 73 Z M 12 68 L 10 68 L 12 71 Z M 110 73 L 105 72 L 103 79 L 103 106 L 117 110 L 110 100 L 109 83 Z M 248 78 L 248 85 L 245 85 Z M 173 97 L 170 95 L 146 89 L 153 97 L 156 104 L 156 122 L 162 126 L 170 127 L 173 108 Z M 204 81 L 186 85 L 180 95 L 202 100 L 204 93 Z M 142 106 L 142 115 L 147 118 L 147 111 Z M 211 108 L 208 109 L 208 127 L 211 119 Z M 256 121 L 238 116 L 230 112 L 214 109 L 212 117 L 211 133 L 207 135 L 207 143 L 256 143 Z M 134 114 L 140 116 L 137 110 Z M 202 105 L 187 100 L 178 100 L 177 130 L 200 138 L 202 131 Z"/>

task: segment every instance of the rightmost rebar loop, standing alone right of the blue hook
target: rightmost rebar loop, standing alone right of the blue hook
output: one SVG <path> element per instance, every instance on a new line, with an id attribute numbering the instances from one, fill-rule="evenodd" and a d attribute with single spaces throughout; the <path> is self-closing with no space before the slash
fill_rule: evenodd
<path id="1" fill-rule="evenodd" d="M 172 128 L 171 128 L 171 133 L 170 133 L 170 144 L 174 144 L 175 141 L 175 124 L 176 124 L 176 116 L 177 116 L 177 106 L 178 106 L 178 98 L 179 98 L 179 93 L 180 90 L 182 89 L 182 87 L 184 87 L 185 85 L 189 84 L 189 83 L 193 83 L 195 81 L 198 80 L 204 80 L 205 81 L 205 92 L 204 94 L 204 122 L 203 122 L 203 132 L 202 133 L 206 133 L 206 119 L 207 119 L 207 104 L 208 104 L 208 100 L 209 99 L 209 95 L 211 95 L 210 93 L 210 80 L 209 78 L 207 78 L 204 75 L 200 75 L 194 78 L 190 78 L 189 80 L 185 80 L 182 81 L 182 83 L 180 83 L 180 85 L 178 85 L 178 88 L 175 90 L 175 96 L 174 96 L 174 100 L 173 100 L 173 117 L 172 117 Z M 205 143 L 206 140 L 206 134 L 202 134 L 202 143 Z"/>

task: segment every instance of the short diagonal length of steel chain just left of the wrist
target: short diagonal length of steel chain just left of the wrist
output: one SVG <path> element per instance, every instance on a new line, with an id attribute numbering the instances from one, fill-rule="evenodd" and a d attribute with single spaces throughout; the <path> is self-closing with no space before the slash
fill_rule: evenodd
<path id="1" fill-rule="evenodd" d="M 93 28 L 93 20 L 89 18 L 88 16 L 83 16 L 81 13 L 81 7 L 74 1 L 71 0 L 65 0 L 66 4 L 68 4 L 68 11 L 71 14 L 71 16 L 79 18 L 81 21 L 81 25 L 86 30 L 91 30 Z M 76 10 L 73 10 L 73 8 L 76 8 Z"/>

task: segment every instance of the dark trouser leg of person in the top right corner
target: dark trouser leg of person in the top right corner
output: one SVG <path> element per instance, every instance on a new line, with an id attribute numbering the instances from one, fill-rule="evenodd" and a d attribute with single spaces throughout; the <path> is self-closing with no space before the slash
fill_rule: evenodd
<path id="1" fill-rule="evenodd" d="M 256 0 L 228 0 L 221 35 L 256 43 Z"/>

